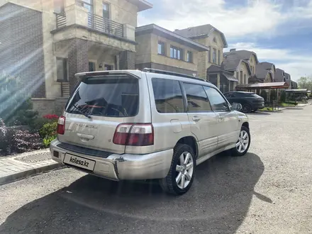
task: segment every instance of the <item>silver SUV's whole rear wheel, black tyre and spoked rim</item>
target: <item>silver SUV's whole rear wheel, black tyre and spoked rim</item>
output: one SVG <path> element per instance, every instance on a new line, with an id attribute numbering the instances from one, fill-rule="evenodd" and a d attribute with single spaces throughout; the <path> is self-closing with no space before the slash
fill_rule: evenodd
<path id="1" fill-rule="evenodd" d="M 185 194 L 193 184 L 195 170 L 196 158 L 192 148 L 189 145 L 178 144 L 174 147 L 169 173 L 167 177 L 160 179 L 160 186 L 168 194 Z"/>

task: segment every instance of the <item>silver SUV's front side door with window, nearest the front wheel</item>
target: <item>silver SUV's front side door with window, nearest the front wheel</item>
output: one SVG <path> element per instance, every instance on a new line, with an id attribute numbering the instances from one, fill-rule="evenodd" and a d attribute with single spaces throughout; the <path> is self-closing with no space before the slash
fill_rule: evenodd
<path id="1" fill-rule="evenodd" d="M 218 149 L 236 143 L 240 133 L 238 114 L 230 111 L 228 102 L 217 89 L 212 87 L 204 87 L 204 89 L 218 119 Z"/>

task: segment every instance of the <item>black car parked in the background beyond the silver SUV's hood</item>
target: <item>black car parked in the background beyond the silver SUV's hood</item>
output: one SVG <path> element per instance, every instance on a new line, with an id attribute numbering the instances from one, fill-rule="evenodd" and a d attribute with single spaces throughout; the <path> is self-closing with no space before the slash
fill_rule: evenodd
<path id="1" fill-rule="evenodd" d="M 264 99 L 255 93 L 247 91 L 229 91 L 224 94 L 226 99 L 233 103 L 239 103 L 243 106 L 244 113 L 250 113 L 264 108 Z"/>

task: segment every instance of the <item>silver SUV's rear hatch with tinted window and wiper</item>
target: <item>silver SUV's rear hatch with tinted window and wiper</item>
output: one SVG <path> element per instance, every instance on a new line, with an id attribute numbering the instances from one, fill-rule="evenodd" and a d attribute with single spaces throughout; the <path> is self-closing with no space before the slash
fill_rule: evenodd
<path id="1" fill-rule="evenodd" d="M 117 126 L 135 123 L 140 116 L 140 77 L 132 74 L 87 74 L 65 108 L 61 143 L 114 153 L 125 145 L 113 143 Z"/>

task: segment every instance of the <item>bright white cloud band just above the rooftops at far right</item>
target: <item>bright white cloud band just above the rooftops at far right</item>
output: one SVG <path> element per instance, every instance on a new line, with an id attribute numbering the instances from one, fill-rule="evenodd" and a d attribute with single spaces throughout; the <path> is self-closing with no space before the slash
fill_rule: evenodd
<path id="1" fill-rule="evenodd" d="M 265 48 L 255 43 L 235 43 L 231 44 L 227 50 L 230 48 L 251 50 L 257 53 L 260 62 L 273 62 L 277 68 L 284 69 L 285 72 L 291 74 L 293 80 L 312 75 L 310 55 L 300 55 L 290 49 Z"/>

